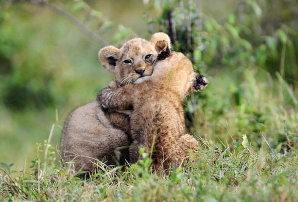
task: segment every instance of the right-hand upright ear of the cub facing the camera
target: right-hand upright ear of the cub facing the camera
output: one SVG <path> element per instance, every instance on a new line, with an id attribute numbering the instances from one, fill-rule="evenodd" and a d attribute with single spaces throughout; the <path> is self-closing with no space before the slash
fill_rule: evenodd
<path id="1" fill-rule="evenodd" d="M 167 48 L 171 49 L 170 37 L 163 32 L 157 32 L 151 36 L 150 43 L 155 46 L 158 55 L 161 52 L 167 51 Z"/>

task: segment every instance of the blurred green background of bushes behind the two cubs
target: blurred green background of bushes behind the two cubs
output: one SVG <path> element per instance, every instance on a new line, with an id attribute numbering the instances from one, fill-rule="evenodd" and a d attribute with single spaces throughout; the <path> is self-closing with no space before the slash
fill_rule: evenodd
<path id="1" fill-rule="evenodd" d="M 59 149 L 69 113 L 113 79 L 97 58 L 105 43 L 84 30 L 120 47 L 168 32 L 169 11 L 174 49 L 211 81 L 185 101 L 187 130 L 227 143 L 246 133 L 256 148 L 264 135 L 280 150 L 285 120 L 297 141 L 297 0 L 0 0 L 0 162 L 28 167 L 52 124 Z"/>

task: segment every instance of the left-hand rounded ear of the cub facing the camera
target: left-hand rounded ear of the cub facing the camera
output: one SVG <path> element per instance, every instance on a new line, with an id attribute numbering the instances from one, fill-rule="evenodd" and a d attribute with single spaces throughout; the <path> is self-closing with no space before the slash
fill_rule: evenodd
<path id="1" fill-rule="evenodd" d="M 98 58 L 103 67 L 109 72 L 115 73 L 116 62 L 119 59 L 120 50 L 114 46 L 106 46 L 98 52 Z"/>

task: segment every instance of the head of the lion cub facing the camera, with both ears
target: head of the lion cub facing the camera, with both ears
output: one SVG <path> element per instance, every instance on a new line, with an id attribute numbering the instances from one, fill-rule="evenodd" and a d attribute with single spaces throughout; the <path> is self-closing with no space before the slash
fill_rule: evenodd
<path id="1" fill-rule="evenodd" d="M 151 76 L 152 65 L 158 55 L 169 52 L 169 49 L 169 36 L 159 32 L 152 35 L 150 42 L 134 38 L 123 44 L 120 49 L 106 46 L 99 51 L 98 57 L 104 68 L 115 74 L 117 86 L 124 86 L 145 81 L 145 78 Z M 137 81 L 138 79 L 140 80 Z"/>

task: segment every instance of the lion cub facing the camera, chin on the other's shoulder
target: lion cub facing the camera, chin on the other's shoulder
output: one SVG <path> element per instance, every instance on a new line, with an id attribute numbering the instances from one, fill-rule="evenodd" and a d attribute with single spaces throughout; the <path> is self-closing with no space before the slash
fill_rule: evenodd
<path id="1" fill-rule="evenodd" d="M 155 43 L 159 40 L 169 41 L 169 37 L 158 33 L 150 42 L 135 38 L 120 49 L 114 46 L 102 48 L 98 53 L 99 60 L 105 69 L 116 75 L 110 88 L 117 89 L 148 79 L 158 56 Z M 117 161 L 124 164 L 131 144 L 129 125 L 129 115 L 119 111 L 104 112 L 98 101 L 76 108 L 63 128 L 61 156 L 64 165 L 71 164 L 74 172 L 80 169 L 91 172 L 97 160 L 107 165 L 116 165 Z"/>

